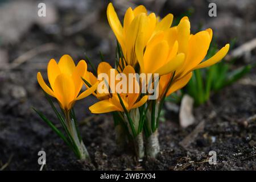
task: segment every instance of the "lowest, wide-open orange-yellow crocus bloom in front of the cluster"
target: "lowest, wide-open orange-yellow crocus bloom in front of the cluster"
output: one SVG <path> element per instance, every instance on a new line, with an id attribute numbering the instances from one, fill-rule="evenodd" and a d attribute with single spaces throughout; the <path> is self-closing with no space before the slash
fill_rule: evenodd
<path id="1" fill-rule="evenodd" d="M 125 69 L 123 69 L 123 74 L 126 75 L 127 78 L 129 78 L 129 73 L 134 74 L 134 68 L 130 65 L 126 66 Z M 125 105 L 125 108 L 127 111 L 130 111 L 131 109 L 135 109 L 137 107 L 142 106 L 146 101 L 148 96 L 143 96 L 141 100 L 138 100 L 140 93 L 135 92 L 135 88 L 139 87 L 139 84 L 136 80 L 136 78 L 133 78 L 133 81 L 129 81 L 129 79 L 126 81 L 126 91 L 125 93 L 119 93 L 119 96 L 122 99 L 123 104 Z M 133 85 L 129 85 L 133 84 Z M 133 92 L 129 93 L 129 87 L 133 86 Z M 110 97 L 107 100 L 102 100 L 97 102 L 96 104 L 89 107 L 89 110 L 92 113 L 109 113 L 112 111 L 124 111 L 122 104 L 118 98 L 117 93 L 113 93 L 112 97 Z"/>

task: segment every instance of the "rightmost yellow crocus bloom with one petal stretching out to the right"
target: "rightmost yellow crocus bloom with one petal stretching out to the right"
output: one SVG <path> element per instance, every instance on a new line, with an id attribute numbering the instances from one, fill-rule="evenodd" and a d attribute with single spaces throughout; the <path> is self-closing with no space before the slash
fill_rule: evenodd
<path id="1" fill-rule="evenodd" d="M 184 77 L 195 69 L 210 67 L 222 60 L 229 51 L 229 44 L 226 44 L 210 59 L 203 61 L 212 41 L 212 29 L 208 28 L 195 35 L 190 34 L 190 23 L 187 16 L 180 20 L 177 27 L 174 27 L 174 32 L 179 43 L 178 52 L 185 53 L 184 63 L 177 69 L 175 79 Z"/>

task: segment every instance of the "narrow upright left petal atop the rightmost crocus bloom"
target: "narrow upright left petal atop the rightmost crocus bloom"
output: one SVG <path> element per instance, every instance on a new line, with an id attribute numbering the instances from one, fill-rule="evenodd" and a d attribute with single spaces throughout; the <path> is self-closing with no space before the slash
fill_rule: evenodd
<path id="1" fill-rule="evenodd" d="M 177 26 L 177 41 L 179 43 L 179 53 L 183 52 L 187 54 L 188 49 L 188 39 L 190 35 L 190 23 L 187 18 L 180 20 Z"/>

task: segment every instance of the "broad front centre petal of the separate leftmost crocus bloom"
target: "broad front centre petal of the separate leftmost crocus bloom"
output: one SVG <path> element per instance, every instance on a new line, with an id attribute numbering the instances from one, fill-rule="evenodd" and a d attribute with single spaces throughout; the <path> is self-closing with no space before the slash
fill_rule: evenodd
<path id="1" fill-rule="evenodd" d="M 62 104 L 63 109 L 71 109 L 68 106 L 75 99 L 75 85 L 70 76 L 65 73 L 57 76 L 54 82 L 53 92 L 57 100 Z"/>

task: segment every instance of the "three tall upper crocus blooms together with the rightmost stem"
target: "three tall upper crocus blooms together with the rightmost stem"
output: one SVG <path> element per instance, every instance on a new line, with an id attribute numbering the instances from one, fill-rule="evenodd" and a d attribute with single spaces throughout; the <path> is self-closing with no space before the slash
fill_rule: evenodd
<path id="1" fill-rule="evenodd" d="M 144 6 L 138 6 L 134 10 L 127 9 L 122 25 L 112 3 L 109 3 L 107 15 L 122 48 L 125 65 L 134 69 L 139 67 L 136 69 L 138 73 L 158 73 L 160 76 L 158 85 L 150 83 L 158 86 L 159 97 L 146 102 L 148 109 L 142 131 L 147 155 L 155 157 L 159 152 L 157 129 L 164 98 L 183 88 L 195 69 L 210 67 L 220 61 L 228 53 L 229 44 L 204 60 L 212 40 L 212 29 L 191 34 L 187 16 L 171 27 L 172 14 L 160 20 L 154 13 L 148 14 Z"/>

